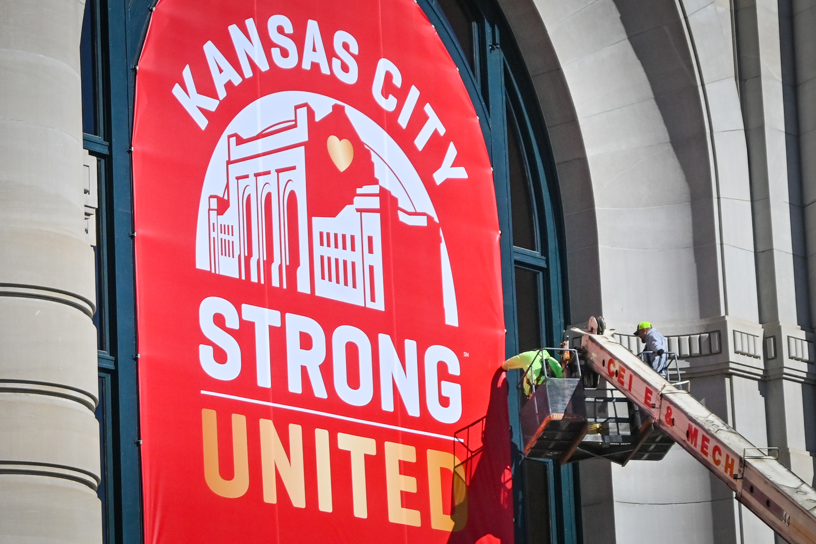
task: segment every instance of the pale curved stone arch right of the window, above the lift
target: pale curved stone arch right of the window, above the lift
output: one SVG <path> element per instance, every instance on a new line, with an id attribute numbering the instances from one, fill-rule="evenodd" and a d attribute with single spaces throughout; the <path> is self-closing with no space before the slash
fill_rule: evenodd
<path id="1" fill-rule="evenodd" d="M 676 2 L 637 3 L 499 1 L 551 139 L 573 322 L 724 313 L 699 61 Z"/>

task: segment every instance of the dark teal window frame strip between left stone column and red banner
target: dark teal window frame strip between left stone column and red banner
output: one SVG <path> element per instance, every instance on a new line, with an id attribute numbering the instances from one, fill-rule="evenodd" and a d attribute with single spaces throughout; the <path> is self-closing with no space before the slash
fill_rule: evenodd
<path id="1" fill-rule="evenodd" d="M 99 179 L 94 321 L 106 544 L 143 542 L 130 147 L 132 67 L 151 2 L 86 0 L 80 47 L 84 147 Z"/>

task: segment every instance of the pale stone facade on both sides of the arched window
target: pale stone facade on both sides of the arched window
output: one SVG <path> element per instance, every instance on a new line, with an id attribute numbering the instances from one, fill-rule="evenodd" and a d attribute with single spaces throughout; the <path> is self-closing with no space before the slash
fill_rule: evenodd
<path id="1" fill-rule="evenodd" d="M 548 125 L 571 321 L 633 349 L 653 321 L 694 395 L 812 482 L 816 1 L 499 4 Z M 0 543 L 101 542 L 82 11 L 0 0 Z M 587 544 L 774 542 L 679 448 L 579 471 Z"/>

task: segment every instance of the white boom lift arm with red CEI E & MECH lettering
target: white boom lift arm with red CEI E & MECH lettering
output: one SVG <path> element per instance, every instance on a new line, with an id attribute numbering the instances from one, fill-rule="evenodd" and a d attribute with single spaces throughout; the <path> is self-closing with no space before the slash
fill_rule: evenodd
<path id="1" fill-rule="evenodd" d="M 583 334 L 587 364 L 724 481 L 748 510 L 787 542 L 816 544 L 816 490 L 626 347 L 605 336 L 572 332 Z"/>

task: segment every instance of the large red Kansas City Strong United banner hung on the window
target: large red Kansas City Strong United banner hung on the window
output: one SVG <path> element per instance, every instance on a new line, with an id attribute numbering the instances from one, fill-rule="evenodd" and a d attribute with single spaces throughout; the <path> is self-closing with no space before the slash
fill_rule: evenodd
<path id="1" fill-rule="evenodd" d="M 137 74 L 145 542 L 512 542 L 490 161 L 420 7 L 162 0 Z"/>

